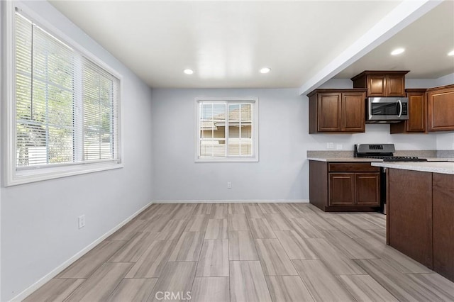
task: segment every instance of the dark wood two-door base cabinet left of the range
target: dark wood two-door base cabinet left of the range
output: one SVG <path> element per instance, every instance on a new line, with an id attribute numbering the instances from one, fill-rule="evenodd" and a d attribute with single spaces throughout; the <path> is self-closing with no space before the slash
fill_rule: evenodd
<path id="1" fill-rule="evenodd" d="M 370 162 L 309 161 L 309 199 L 323 211 L 377 211 L 380 168 Z"/>

